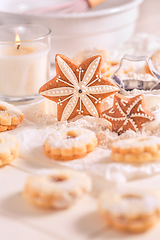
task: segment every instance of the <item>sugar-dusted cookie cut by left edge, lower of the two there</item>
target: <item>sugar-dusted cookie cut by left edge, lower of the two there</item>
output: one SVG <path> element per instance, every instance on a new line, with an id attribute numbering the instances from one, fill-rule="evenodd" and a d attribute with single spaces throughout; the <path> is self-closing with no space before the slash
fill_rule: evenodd
<path id="1" fill-rule="evenodd" d="M 19 154 L 16 137 L 8 133 L 0 133 L 0 166 L 9 164 Z"/>

